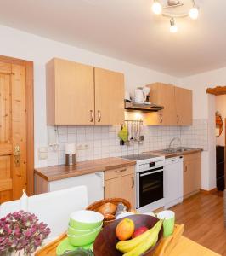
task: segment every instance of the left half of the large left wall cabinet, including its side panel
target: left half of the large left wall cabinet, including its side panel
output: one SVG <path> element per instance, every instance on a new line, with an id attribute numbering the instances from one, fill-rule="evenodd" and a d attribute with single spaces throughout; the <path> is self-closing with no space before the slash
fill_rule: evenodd
<path id="1" fill-rule="evenodd" d="M 48 125 L 94 124 L 93 67 L 54 58 L 47 63 Z"/>

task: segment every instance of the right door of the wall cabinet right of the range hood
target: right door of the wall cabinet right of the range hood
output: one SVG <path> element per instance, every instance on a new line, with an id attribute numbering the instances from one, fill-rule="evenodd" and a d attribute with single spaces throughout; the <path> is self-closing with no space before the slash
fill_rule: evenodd
<path id="1" fill-rule="evenodd" d="M 178 125 L 192 125 L 192 91 L 175 87 Z"/>

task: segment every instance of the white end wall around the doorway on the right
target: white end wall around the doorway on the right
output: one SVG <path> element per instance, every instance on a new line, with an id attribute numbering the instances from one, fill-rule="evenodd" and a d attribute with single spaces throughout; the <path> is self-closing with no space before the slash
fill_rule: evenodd
<path id="1" fill-rule="evenodd" d="M 215 96 L 206 94 L 206 89 L 226 85 L 226 67 L 178 79 L 178 84 L 193 90 L 194 119 L 208 122 L 208 150 L 202 154 L 202 189 L 216 188 Z"/>

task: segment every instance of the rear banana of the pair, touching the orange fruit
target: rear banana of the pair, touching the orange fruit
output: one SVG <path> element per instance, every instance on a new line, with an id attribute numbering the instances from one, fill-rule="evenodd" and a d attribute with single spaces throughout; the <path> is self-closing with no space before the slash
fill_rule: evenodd
<path id="1" fill-rule="evenodd" d="M 160 220 L 155 224 L 155 226 L 153 228 L 151 228 L 150 230 L 147 230 L 142 235 L 137 236 L 131 240 L 117 242 L 116 249 L 119 250 L 121 253 L 127 253 L 127 252 L 132 251 L 135 247 L 138 247 L 138 245 L 141 242 L 146 240 L 155 231 L 156 228 L 158 228 L 160 230 L 161 224 L 162 224 L 162 221 Z M 160 226 L 160 228 L 159 228 L 159 226 Z M 159 233 L 159 230 L 158 230 L 158 233 Z"/>

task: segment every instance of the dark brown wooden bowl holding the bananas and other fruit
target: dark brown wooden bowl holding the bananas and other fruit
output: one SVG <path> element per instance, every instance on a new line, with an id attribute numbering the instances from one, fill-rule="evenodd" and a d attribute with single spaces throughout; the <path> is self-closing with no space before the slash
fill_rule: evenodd
<path id="1" fill-rule="evenodd" d="M 155 218 L 149 215 L 143 215 L 143 214 L 135 214 L 135 215 L 127 216 L 126 218 L 130 218 L 133 220 L 135 224 L 135 229 L 138 229 L 139 227 L 143 227 L 143 226 L 150 229 L 159 220 L 158 218 Z M 105 226 L 103 230 L 99 232 L 99 235 L 97 236 L 93 244 L 93 253 L 95 256 L 103 256 L 103 255 L 121 256 L 123 254 L 116 249 L 116 243 L 118 242 L 118 239 L 116 237 L 116 226 L 119 222 L 121 222 L 121 219 L 123 218 L 120 218 L 118 220 L 115 220 L 111 224 L 108 224 L 107 226 Z M 158 241 L 155 247 L 151 247 L 150 250 L 143 253 L 142 256 L 153 255 L 153 253 L 155 252 L 155 248 L 158 246 L 158 244 L 161 241 L 162 235 L 163 235 L 163 229 L 161 227 Z"/>

